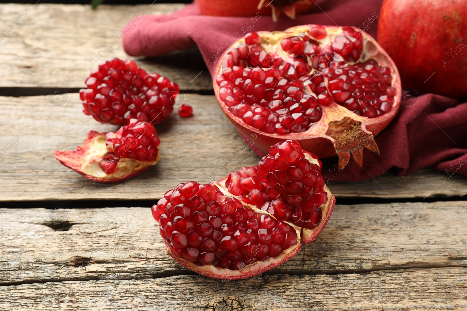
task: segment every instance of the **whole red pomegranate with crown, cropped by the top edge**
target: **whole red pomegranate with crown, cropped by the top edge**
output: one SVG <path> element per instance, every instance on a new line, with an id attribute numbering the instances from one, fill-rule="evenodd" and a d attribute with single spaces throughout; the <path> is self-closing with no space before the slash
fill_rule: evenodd
<path id="1" fill-rule="evenodd" d="M 272 15 L 274 21 L 284 13 L 291 19 L 295 14 L 304 14 L 313 6 L 311 0 L 196 0 L 203 15 L 255 16 Z M 256 15 L 257 16 L 257 15 Z"/>

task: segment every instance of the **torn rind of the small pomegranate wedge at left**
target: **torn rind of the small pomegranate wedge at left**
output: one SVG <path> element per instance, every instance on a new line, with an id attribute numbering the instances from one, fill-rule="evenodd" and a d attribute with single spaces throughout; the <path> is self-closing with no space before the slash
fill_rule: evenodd
<path id="1" fill-rule="evenodd" d="M 88 151 L 92 148 L 93 145 L 97 143 L 97 140 L 106 140 L 107 133 L 98 133 L 96 131 L 89 131 L 85 138 L 85 142 L 83 145 L 80 145 L 76 148 L 75 151 L 56 151 L 54 153 L 55 159 L 57 159 L 62 165 L 71 168 L 75 172 L 83 175 L 89 180 L 97 181 L 97 182 L 118 182 L 121 180 L 126 180 L 128 178 L 134 177 L 146 170 L 148 170 L 151 166 L 156 165 L 156 163 L 161 159 L 161 153 L 159 147 L 157 148 L 158 154 L 157 158 L 154 161 L 139 161 L 141 165 L 139 168 L 134 170 L 128 170 L 127 173 L 124 175 L 114 178 L 112 175 L 105 174 L 104 177 L 96 177 L 91 176 L 83 172 L 82 167 L 83 163 L 87 161 L 88 158 Z"/>

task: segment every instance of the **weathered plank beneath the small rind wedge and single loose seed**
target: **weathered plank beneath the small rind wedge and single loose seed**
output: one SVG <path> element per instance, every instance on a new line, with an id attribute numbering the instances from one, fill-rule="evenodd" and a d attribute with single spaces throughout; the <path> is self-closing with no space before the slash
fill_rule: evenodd
<path id="1" fill-rule="evenodd" d="M 190 104 L 194 117 L 174 111 L 156 126 L 162 159 L 139 177 L 120 183 L 94 183 L 60 165 L 56 150 L 74 150 L 88 131 L 116 131 L 82 113 L 77 93 L 63 96 L 0 97 L 0 201 L 25 200 L 156 200 L 180 182 L 209 182 L 259 158 L 248 148 L 209 95 L 182 94 L 177 104 Z M 52 104 L 53 103 L 53 104 Z M 14 136 L 27 131 L 18 141 Z M 15 142 L 14 144 L 11 144 Z M 224 165 L 227 159 L 232 163 Z M 467 194 L 467 178 L 445 180 L 429 169 L 405 177 L 386 173 L 359 183 L 332 182 L 336 197 L 425 198 Z"/>

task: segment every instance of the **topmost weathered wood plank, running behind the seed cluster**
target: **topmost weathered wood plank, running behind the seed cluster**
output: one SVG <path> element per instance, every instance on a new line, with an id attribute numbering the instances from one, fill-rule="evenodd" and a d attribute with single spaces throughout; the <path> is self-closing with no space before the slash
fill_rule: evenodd
<path id="1" fill-rule="evenodd" d="M 22 21 L 0 36 L 0 88 L 84 87 L 85 77 L 99 59 L 130 58 L 120 41 L 120 31 L 128 21 L 140 12 L 170 14 L 183 6 L 102 5 L 93 11 L 88 4 L 2 4 L 2 29 L 11 26 L 17 17 Z M 138 27 L 138 23 L 135 25 Z M 182 90 L 212 90 L 209 72 L 197 48 L 142 59 L 138 65 L 168 77 Z"/>

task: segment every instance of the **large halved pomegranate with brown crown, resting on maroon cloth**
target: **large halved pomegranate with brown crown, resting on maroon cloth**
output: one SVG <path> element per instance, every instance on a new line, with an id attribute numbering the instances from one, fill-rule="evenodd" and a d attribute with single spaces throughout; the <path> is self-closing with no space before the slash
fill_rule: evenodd
<path id="1" fill-rule="evenodd" d="M 401 83 L 394 62 L 371 36 L 353 27 L 304 25 L 253 32 L 226 51 L 214 75 L 219 105 L 264 153 L 294 139 L 319 158 L 363 148 L 396 116 Z"/>

